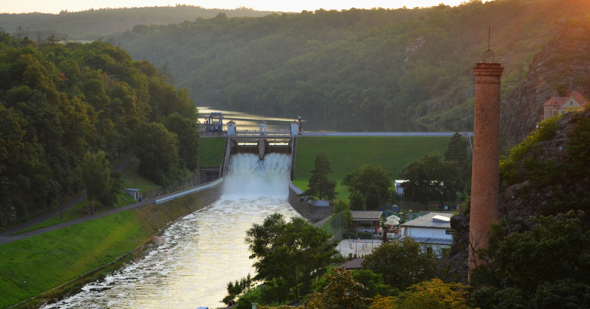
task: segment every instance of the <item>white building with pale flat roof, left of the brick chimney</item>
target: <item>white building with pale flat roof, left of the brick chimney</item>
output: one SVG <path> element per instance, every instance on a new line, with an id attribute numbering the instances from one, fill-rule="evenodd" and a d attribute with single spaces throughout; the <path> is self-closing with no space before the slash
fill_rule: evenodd
<path id="1" fill-rule="evenodd" d="M 452 213 L 428 213 L 408 221 L 401 225 L 401 239 L 410 237 L 437 251 L 451 248 L 455 232 L 451 229 L 451 216 Z"/>

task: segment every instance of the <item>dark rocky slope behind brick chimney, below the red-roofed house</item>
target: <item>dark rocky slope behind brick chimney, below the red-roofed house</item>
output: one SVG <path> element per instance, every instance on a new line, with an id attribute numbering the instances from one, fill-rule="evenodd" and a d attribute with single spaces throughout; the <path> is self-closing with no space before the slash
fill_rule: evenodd
<path id="1" fill-rule="evenodd" d="M 499 223 L 507 232 L 523 232 L 532 217 L 584 210 L 590 213 L 590 110 L 570 112 L 543 123 L 500 167 Z M 467 281 L 468 206 L 451 218 L 455 243 L 451 275 Z M 586 221 L 589 221 L 586 216 Z M 590 222 L 585 222 L 590 227 Z"/>

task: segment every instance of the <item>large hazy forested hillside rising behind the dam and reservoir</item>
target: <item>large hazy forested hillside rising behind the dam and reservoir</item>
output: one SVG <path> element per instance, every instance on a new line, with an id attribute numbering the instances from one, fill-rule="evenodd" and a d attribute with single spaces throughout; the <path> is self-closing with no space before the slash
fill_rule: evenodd
<path id="1" fill-rule="evenodd" d="M 589 9 L 584 0 L 504 0 L 303 11 L 136 27 L 115 42 L 168 69 L 198 105 L 316 117 L 326 129 L 462 131 L 473 125 L 472 68 L 489 26 L 506 95 L 556 19 Z"/>

